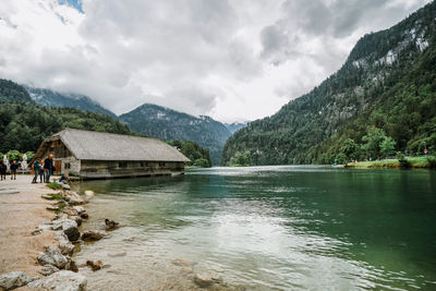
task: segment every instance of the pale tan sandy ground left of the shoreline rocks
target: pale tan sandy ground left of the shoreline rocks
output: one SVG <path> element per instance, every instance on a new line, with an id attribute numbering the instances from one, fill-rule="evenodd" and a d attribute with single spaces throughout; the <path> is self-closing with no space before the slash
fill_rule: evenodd
<path id="1" fill-rule="evenodd" d="M 44 245 L 57 245 L 53 232 L 32 235 L 32 231 L 44 220 L 55 215 L 46 207 L 49 201 L 40 196 L 53 193 L 44 183 L 32 184 L 32 175 L 17 175 L 16 180 L 0 181 L 0 274 L 14 270 L 39 276 L 36 263 Z"/>

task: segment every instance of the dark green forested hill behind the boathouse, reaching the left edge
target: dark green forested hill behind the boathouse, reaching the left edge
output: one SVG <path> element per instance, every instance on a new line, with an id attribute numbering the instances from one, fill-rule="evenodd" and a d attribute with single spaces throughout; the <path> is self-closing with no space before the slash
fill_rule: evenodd
<path id="1" fill-rule="evenodd" d="M 121 122 L 73 108 L 48 108 L 33 104 L 0 104 L 0 153 L 36 150 L 44 138 L 65 129 L 133 134 Z"/>

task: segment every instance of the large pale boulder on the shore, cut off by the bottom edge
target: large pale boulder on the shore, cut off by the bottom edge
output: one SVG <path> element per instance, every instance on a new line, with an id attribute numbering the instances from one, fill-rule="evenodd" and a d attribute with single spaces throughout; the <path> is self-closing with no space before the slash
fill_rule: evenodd
<path id="1" fill-rule="evenodd" d="M 86 290 L 86 278 L 71 270 L 61 270 L 48 277 L 35 280 L 27 284 L 31 289 L 55 290 L 55 291 L 84 291 Z"/>

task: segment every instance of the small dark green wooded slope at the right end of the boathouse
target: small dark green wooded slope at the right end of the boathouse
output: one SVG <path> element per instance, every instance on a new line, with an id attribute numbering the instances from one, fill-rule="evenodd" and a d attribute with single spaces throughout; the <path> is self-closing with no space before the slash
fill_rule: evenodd
<path id="1" fill-rule="evenodd" d="M 177 147 L 185 157 L 191 160 L 190 162 L 186 162 L 187 166 L 202 168 L 211 167 L 209 149 L 199 146 L 197 143 L 174 140 L 168 142 L 168 144 Z"/>

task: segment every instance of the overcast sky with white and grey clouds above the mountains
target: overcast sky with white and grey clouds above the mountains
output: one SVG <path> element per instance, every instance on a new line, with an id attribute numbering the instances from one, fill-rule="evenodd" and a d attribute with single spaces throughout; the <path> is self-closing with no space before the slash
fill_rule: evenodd
<path id="1" fill-rule="evenodd" d="M 338 70 L 429 0 L 2 0 L 0 77 L 244 121 Z"/>

